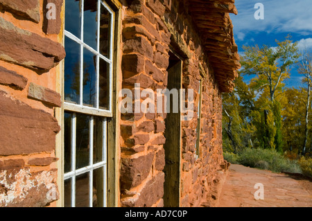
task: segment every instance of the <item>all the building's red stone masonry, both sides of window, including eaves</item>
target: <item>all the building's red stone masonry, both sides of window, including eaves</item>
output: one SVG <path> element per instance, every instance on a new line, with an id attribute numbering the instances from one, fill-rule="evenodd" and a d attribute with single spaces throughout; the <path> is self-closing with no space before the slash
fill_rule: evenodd
<path id="1" fill-rule="evenodd" d="M 170 51 L 180 56 L 182 88 L 194 90 L 194 117 L 181 125 L 179 205 L 214 206 L 229 166 L 222 152 L 221 94 L 232 91 L 240 67 L 229 19 L 237 13 L 234 0 L 107 1 L 116 3 L 121 21 L 114 50 L 121 58 L 121 71 L 114 73 L 121 89 L 135 83 L 141 90 L 166 89 Z M 46 19 L 47 3 L 57 6 L 55 20 Z M 62 0 L 0 0 L 0 206 L 62 200 L 55 157 L 62 121 L 55 113 L 62 107 L 64 10 L 70 9 Z M 164 206 L 166 114 L 117 110 L 114 117 L 114 206 Z"/>

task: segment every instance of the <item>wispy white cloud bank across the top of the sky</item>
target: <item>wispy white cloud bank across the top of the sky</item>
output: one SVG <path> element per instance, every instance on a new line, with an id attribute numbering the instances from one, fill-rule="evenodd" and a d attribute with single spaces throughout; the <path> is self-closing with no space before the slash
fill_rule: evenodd
<path id="1" fill-rule="evenodd" d="M 264 6 L 264 19 L 254 19 L 254 4 Z M 234 33 L 266 31 L 280 33 L 312 33 L 311 0 L 236 0 L 239 15 L 231 15 Z"/>

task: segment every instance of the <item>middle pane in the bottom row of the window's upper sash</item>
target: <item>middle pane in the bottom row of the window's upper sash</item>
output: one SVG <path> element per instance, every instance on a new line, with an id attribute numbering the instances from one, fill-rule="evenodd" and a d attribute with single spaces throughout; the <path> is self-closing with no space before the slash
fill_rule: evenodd
<path id="1" fill-rule="evenodd" d="M 96 107 L 96 55 L 83 51 L 83 105 Z"/>

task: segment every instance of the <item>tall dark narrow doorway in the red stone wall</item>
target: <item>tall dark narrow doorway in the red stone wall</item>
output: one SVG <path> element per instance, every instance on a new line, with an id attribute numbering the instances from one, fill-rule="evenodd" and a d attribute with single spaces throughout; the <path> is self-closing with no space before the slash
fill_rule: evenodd
<path id="1" fill-rule="evenodd" d="M 169 52 L 168 85 L 170 93 L 170 112 L 166 114 L 166 130 L 164 136 L 165 150 L 165 182 L 164 182 L 164 206 L 180 206 L 180 157 L 181 157 L 181 113 L 180 113 L 180 89 L 182 88 L 182 60 L 173 52 Z M 169 98 L 168 96 L 168 98 Z M 168 99 L 167 98 L 167 99 Z M 178 101 L 177 109 L 173 107 L 173 100 Z M 167 105 L 169 102 L 167 103 Z"/>

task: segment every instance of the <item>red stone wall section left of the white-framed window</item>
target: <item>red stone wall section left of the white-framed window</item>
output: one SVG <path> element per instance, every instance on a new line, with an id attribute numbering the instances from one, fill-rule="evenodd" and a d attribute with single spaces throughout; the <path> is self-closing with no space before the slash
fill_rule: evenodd
<path id="1" fill-rule="evenodd" d="M 48 2 L 57 8 L 55 20 L 46 19 Z M 59 0 L 0 0 L 0 206 L 46 206 L 58 199 L 61 8 Z"/>

